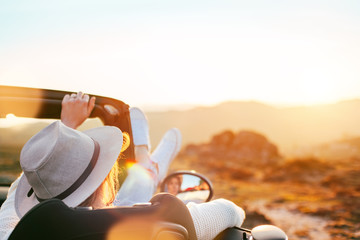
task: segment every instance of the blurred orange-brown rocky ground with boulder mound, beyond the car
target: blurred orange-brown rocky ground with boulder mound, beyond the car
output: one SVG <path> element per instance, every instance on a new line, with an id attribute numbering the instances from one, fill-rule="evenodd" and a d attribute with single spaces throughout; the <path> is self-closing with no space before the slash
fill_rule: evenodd
<path id="1" fill-rule="evenodd" d="M 244 207 L 245 227 L 275 224 L 295 240 L 360 239 L 359 138 L 319 149 L 289 158 L 262 134 L 223 131 L 184 147 L 171 170 L 207 176 L 216 198 Z"/>

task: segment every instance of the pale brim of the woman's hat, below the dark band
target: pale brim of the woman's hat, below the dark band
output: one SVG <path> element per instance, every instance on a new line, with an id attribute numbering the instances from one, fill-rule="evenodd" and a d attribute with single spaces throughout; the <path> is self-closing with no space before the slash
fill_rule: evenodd
<path id="1" fill-rule="evenodd" d="M 97 163 L 86 178 L 86 180 L 72 194 L 63 199 L 69 207 L 76 207 L 86 200 L 101 185 L 110 170 L 114 166 L 123 144 L 123 135 L 119 128 L 112 126 L 103 126 L 93 128 L 83 132 L 93 138 L 100 145 L 100 153 Z M 15 210 L 19 218 L 22 218 L 39 201 L 35 194 L 27 196 L 31 186 L 22 174 L 19 185 L 15 193 Z"/>

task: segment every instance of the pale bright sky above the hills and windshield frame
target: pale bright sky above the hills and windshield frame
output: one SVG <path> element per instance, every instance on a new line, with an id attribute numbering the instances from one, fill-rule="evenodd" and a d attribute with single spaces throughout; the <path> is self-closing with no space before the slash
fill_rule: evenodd
<path id="1" fill-rule="evenodd" d="M 358 0 L 0 0 L 0 85 L 147 109 L 360 98 Z"/>

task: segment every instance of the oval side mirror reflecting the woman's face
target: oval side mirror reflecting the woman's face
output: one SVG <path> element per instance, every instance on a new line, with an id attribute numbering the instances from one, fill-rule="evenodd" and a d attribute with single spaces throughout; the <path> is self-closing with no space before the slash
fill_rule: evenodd
<path id="1" fill-rule="evenodd" d="M 195 171 L 178 171 L 168 175 L 160 190 L 173 194 L 185 204 L 208 202 L 214 194 L 211 182 Z"/>

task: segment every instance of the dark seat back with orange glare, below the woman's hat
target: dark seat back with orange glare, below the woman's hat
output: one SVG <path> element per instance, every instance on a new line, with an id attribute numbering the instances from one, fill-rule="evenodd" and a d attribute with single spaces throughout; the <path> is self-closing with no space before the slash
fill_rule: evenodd
<path id="1" fill-rule="evenodd" d="M 50 199 L 25 214 L 9 240 L 196 239 L 183 202 L 170 194 L 154 198 L 150 206 L 97 210 L 69 208 L 61 200 Z"/>

